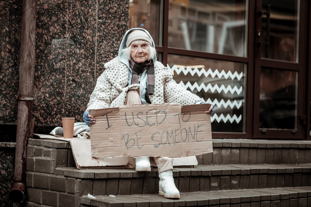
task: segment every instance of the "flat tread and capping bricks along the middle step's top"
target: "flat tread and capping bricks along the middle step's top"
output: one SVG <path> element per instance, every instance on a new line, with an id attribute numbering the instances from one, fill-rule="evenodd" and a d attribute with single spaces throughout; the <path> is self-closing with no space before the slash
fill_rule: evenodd
<path id="1" fill-rule="evenodd" d="M 197 165 L 194 168 L 174 168 L 173 177 L 252 175 L 252 174 L 296 174 L 311 172 L 309 164 L 248 164 L 248 165 Z M 31 172 L 29 172 L 31 173 Z M 143 178 L 158 177 L 157 168 L 151 172 L 137 172 L 135 169 L 76 169 L 74 167 L 56 168 L 55 175 L 71 178 Z"/>

